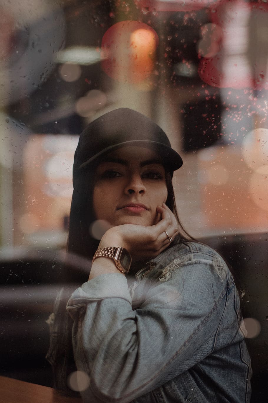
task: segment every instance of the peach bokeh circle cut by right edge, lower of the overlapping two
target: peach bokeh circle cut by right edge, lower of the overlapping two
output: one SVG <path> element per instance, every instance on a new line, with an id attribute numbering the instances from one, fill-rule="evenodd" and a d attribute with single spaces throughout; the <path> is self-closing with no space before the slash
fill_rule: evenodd
<path id="1" fill-rule="evenodd" d="M 248 188 L 254 203 L 268 211 L 268 165 L 260 166 L 253 172 Z"/>

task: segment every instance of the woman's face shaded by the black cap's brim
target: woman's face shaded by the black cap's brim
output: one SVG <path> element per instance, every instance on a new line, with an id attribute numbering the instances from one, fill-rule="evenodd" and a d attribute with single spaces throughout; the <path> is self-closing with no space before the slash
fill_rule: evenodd
<path id="1" fill-rule="evenodd" d="M 98 220 L 111 225 L 150 226 L 160 220 L 166 202 L 166 172 L 157 153 L 128 146 L 107 154 L 96 168 L 93 207 Z"/>

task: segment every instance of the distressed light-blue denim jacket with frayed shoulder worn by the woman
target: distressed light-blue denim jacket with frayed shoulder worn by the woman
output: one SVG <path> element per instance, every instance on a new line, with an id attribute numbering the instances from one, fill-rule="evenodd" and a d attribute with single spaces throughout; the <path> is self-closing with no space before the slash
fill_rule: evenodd
<path id="1" fill-rule="evenodd" d="M 249 403 L 252 375 L 239 296 L 222 258 L 184 242 L 148 262 L 128 286 L 102 274 L 76 289 L 77 369 L 85 403 Z"/>

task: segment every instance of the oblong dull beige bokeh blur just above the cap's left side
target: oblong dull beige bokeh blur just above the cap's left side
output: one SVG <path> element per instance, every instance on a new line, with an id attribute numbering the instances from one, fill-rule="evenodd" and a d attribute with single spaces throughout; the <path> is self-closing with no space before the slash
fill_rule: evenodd
<path id="1" fill-rule="evenodd" d="M 89 117 L 92 112 L 104 108 L 107 103 L 107 97 L 104 92 L 98 89 L 92 89 L 88 91 L 86 96 L 79 98 L 76 101 L 76 112 L 78 115 L 86 118 Z"/>

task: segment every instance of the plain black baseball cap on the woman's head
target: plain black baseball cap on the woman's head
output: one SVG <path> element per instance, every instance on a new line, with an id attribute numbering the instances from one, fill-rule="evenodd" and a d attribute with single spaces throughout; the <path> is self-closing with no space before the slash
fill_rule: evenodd
<path id="1" fill-rule="evenodd" d="M 119 108 L 100 116 L 82 131 L 74 155 L 74 176 L 104 153 L 124 145 L 155 149 L 171 175 L 182 166 L 182 158 L 171 148 L 161 127 L 135 110 Z"/>

